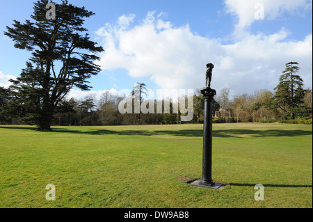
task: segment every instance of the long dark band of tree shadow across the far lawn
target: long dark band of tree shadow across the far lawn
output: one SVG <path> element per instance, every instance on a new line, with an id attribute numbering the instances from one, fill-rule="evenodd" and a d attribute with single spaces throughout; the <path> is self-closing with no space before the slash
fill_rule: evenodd
<path id="1" fill-rule="evenodd" d="M 10 127 L 0 126 L 0 129 L 29 129 L 36 131 L 36 127 Z M 181 130 L 109 130 L 109 129 L 90 129 L 90 130 L 77 130 L 68 128 L 53 127 L 52 132 L 71 133 L 71 134 L 86 134 L 86 135 L 127 135 L 127 136 L 155 136 L 155 135 L 170 135 L 170 136 L 195 136 L 202 137 L 202 129 L 181 129 Z M 213 132 L 213 137 L 218 138 L 240 138 L 248 137 L 264 137 L 264 136 L 308 136 L 312 135 L 312 131 L 305 130 L 282 130 L 282 129 L 217 129 Z"/>

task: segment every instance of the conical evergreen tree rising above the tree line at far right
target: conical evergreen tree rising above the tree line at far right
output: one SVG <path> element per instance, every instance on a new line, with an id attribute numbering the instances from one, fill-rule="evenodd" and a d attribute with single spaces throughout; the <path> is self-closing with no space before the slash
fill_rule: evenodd
<path id="1" fill-rule="evenodd" d="M 274 88 L 274 104 L 284 111 L 285 117 L 290 115 L 294 120 L 296 109 L 303 103 L 305 92 L 302 88 L 303 79 L 296 73 L 299 71 L 297 62 L 286 64 L 286 69 L 280 76 L 280 83 Z"/>

